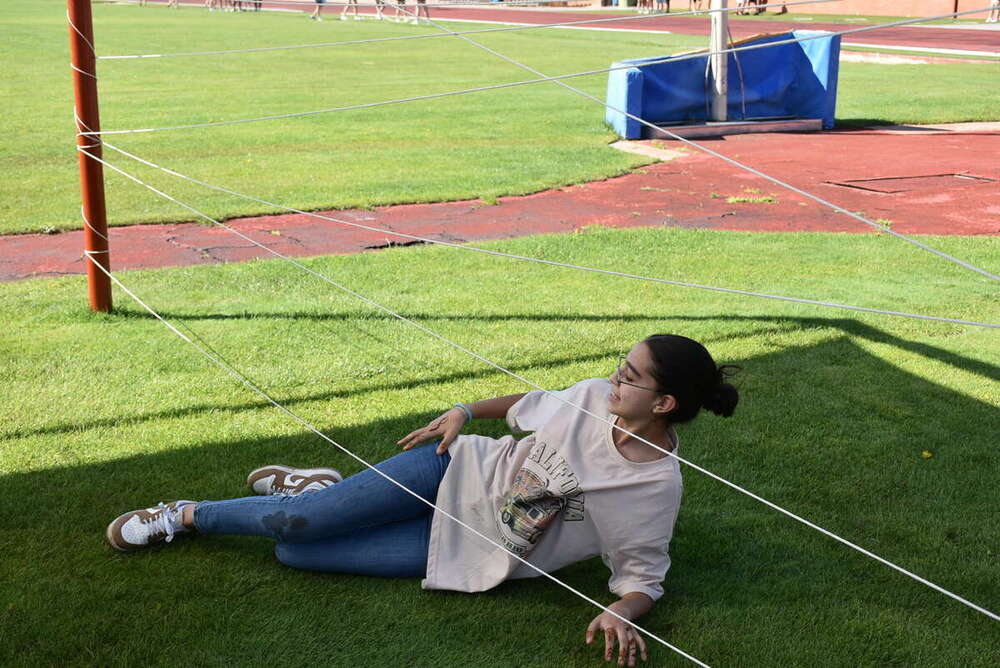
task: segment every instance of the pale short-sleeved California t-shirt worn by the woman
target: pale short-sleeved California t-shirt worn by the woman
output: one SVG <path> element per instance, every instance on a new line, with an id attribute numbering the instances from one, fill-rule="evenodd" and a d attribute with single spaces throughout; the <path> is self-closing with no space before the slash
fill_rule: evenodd
<path id="1" fill-rule="evenodd" d="M 593 379 L 554 394 L 610 422 L 610 390 Z M 547 573 L 601 555 L 613 593 L 658 599 L 680 508 L 677 460 L 625 459 L 610 424 L 544 392 L 526 394 L 507 422 L 533 433 L 459 436 L 437 496 L 439 508 L 505 549 L 435 512 L 423 587 L 484 591 L 538 575 L 509 550 Z"/>

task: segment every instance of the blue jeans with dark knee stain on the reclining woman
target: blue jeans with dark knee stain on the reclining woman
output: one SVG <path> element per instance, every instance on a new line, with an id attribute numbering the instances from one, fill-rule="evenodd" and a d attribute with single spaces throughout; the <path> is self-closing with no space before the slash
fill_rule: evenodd
<path id="1" fill-rule="evenodd" d="M 375 468 L 431 503 L 451 455 L 437 444 L 402 452 Z M 434 509 L 366 469 L 343 482 L 299 496 L 250 496 L 202 501 L 194 524 L 201 533 L 265 536 L 278 541 L 283 564 L 311 571 L 381 577 L 427 572 Z"/>

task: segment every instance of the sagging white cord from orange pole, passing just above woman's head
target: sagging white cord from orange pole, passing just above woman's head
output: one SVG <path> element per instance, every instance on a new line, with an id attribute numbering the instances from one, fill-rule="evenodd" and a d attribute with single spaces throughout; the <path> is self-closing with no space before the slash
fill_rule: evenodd
<path id="1" fill-rule="evenodd" d="M 642 275 L 639 275 L 639 274 L 629 274 L 629 273 L 625 273 L 625 272 L 621 272 L 621 271 L 614 271 L 614 270 L 611 270 L 611 269 L 598 269 L 598 268 L 595 268 L 595 267 L 586 267 L 586 266 L 582 266 L 582 265 L 569 264 L 569 263 L 565 263 L 565 262 L 556 262 L 555 260 L 545 260 L 545 259 L 531 257 L 531 256 L 526 256 L 526 255 L 516 255 L 516 254 L 513 254 L 513 253 L 505 253 L 503 251 L 495 251 L 495 250 L 489 250 L 489 249 L 486 249 L 486 248 L 478 248 L 476 246 L 469 246 L 469 245 L 466 245 L 466 244 L 458 244 L 458 243 L 453 243 L 453 242 L 449 242 L 449 241 L 443 241 L 441 239 L 434 239 L 432 237 L 422 237 L 422 236 L 415 235 L 415 234 L 407 234 L 405 232 L 397 232 L 397 231 L 391 230 L 389 228 L 376 227 L 376 226 L 373 226 L 373 225 L 364 225 L 362 223 L 357 223 L 357 222 L 353 222 L 353 221 L 349 221 L 349 220 L 344 220 L 344 219 L 341 219 L 341 218 L 334 218 L 332 216 L 325 216 L 325 215 L 322 215 L 322 214 L 319 214 L 319 213 L 315 213 L 315 212 L 312 212 L 312 211 L 303 211 L 302 209 L 296 209 L 294 207 L 289 207 L 289 206 L 285 206 L 285 205 L 282 205 L 282 204 L 277 204 L 275 202 L 269 202 L 267 200 L 260 199 L 258 197 L 253 197 L 251 195 L 246 195 L 246 194 L 237 192 L 235 190 L 231 190 L 229 188 L 225 188 L 223 186 L 213 185 L 211 183 L 206 183 L 205 181 L 202 181 L 200 179 L 196 179 L 196 178 L 194 178 L 192 176 L 187 176 L 185 174 L 181 174 L 180 172 L 177 172 L 177 171 L 175 171 L 173 169 L 169 169 L 167 167 L 163 167 L 163 166 L 158 165 L 158 164 L 156 164 L 154 162 L 146 160 L 145 158 L 141 158 L 141 157 L 139 157 L 139 156 L 137 156 L 137 155 L 135 155 L 133 153 L 129 153 L 128 151 L 126 151 L 124 149 L 121 149 L 121 148 L 118 148 L 117 146 L 114 146 L 113 144 L 109 144 L 109 143 L 105 142 L 103 145 L 104 145 L 105 148 L 108 148 L 108 149 L 111 149 L 112 151 L 120 153 L 121 155 L 124 155 L 127 158 L 135 160 L 136 162 L 140 162 L 140 163 L 142 163 L 142 164 L 144 164 L 144 165 L 146 165 L 148 167 L 152 167 L 153 169 L 158 169 L 158 170 L 160 170 L 162 172 L 165 172 L 167 174 L 170 174 L 171 176 L 174 176 L 176 178 L 183 179 L 185 181 L 190 181 L 191 183 L 195 183 L 195 184 L 200 185 L 200 186 L 202 186 L 204 188 L 209 188 L 210 190 L 215 190 L 217 192 L 223 192 L 223 193 L 226 193 L 228 195 L 233 195 L 234 197 L 239 197 L 239 198 L 248 200 L 250 202 L 256 202 L 258 204 L 264 204 L 266 206 L 271 206 L 271 207 L 274 207 L 274 208 L 277 208 L 277 209 L 281 209 L 283 211 L 288 211 L 290 213 L 297 213 L 297 214 L 301 214 L 301 215 L 304 215 L 304 216 L 309 216 L 311 218 L 317 218 L 319 220 L 325 220 L 325 221 L 329 221 L 331 223 L 337 223 L 339 225 L 346 225 L 346 226 L 349 226 L 349 227 L 354 227 L 354 228 L 358 228 L 358 229 L 362 229 L 362 230 L 367 230 L 369 232 L 378 232 L 380 234 L 387 234 L 387 235 L 390 235 L 390 236 L 401 237 L 401 238 L 410 239 L 410 240 L 413 240 L 413 241 L 421 241 L 421 242 L 428 243 L 428 244 L 436 244 L 436 245 L 439 245 L 439 246 L 446 246 L 448 248 L 457 248 L 457 249 L 460 249 L 460 250 L 471 251 L 471 252 L 475 252 L 475 253 L 482 253 L 482 254 L 485 254 L 485 255 L 492 255 L 492 256 L 495 256 L 495 257 L 505 257 L 505 258 L 509 258 L 509 259 L 512 259 L 512 260 L 522 260 L 522 261 L 526 261 L 526 262 L 535 262 L 535 263 L 538 263 L 538 264 L 544 264 L 544 265 L 549 265 L 549 266 L 553 266 L 553 267 L 563 267 L 563 268 L 566 268 L 566 269 L 576 269 L 576 270 L 579 270 L 579 271 L 588 271 L 588 272 L 597 273 L 597 274 L 605 274 L 605 275 L 610 275 L 610 276 L 618 276 L 618 277 L 621 277 L 621 278 L 630 278 L 630 279 L 636 279 L 636 280 L 641 280 L 641 281 L 649 281 L 651 283 L 661 283 L 661 284 L 664 284 L 664 285 L 672 285 L 672 286 L 675 286 L 675 287 L 696 288 L 696 289 L 700 289 L 700 290 L 711 290 L 711 291 L 714 291 L 714 292 L 722 292 L 722 293 L 726 293 L 726 294 L 735 294 L 735 295 L 741 295 L 741 296 L 744 296 L 744 297 L 757 297 L 757 298 L 762 298 L 762 299 L 775 299 L 775 300 L 779 300 L 779 301 L 792 302 L 792 303 L 796 303 L 796 304 L 809 304 L 809 305 L 812 305 L 812 306 L 826 306 L 826 307 L 830 307 L 830 308 L 845 309 L 845 310 L 849 310 L 849 311 L 860 311 L 862 313 L 877 313 L 877 314 L 880 314 L 880 315 L 892 315 L 892 316 L 900 316 L 900 317 L 904 317 L 904 318 L 915 318 L 915 319 L 919 319 L 919 320 L 931 320 L 931 321 L 936 321 L 936 322 L 947 322 L 947 323 L 956 324 L 956 325 L 972 325 L 974 327 L 989 327 L 989 328 L 994 328 L 994 329 L 1000 329 L 1000 324 L 998 324 L 998 323 L 978 322 L 978 321 L 975 321 L 975 320 L 959 320 L 957 318 L 945 318 L 945 317 L 932 316 L 932 315 L 920 315 L 920 314 L 916 314 L 916 313 L 906 313 L 904 311 L 889 311 L 889 310 L 877 309 L 877 308 L 869 308 L 869 307 L 864 307 L 864 306 L 852 306 L 850 304 L 838 304 L 836 302 L 819 301 L 819 300 L 804 299 L 804 298 L 798 298 L 798 297 L 785 297 L 785 296 L 782 296 L 782 295 L 773 295 L 773 294 L 768 294 L 768 293 L 763 293 L 763 292 L 750 292 L 750 291 L 746 291 L 746 290 L 737 290 L 737 289 L 733 289 L 733 288 L 721 288 L 721 287 L 715 287 L 715 286 L 711 286 L 711 285 L 702 285 L 702 284 L 699 284 L 699 283 L 689 283 L 689 282 L 683 282 L 683 281 L 672 281 L 672 280 L 668 280 L 668 279 L 665 279 L 665 278 L 655 278 L 655 277 L 650 277 L 650 276 L 642 276 Z"/>

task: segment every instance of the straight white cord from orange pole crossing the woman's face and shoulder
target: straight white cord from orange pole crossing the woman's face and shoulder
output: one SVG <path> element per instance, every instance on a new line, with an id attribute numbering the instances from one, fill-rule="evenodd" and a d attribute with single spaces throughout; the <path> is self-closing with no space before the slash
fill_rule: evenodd
<path id="1" fill-rule="evenodd" d="M 84 151 L 84 153 L 86 153 L 86 151 Z M 517 373 L 514 373 L 513 371 L 510 371 L 510 370 L 508 370 L 508 369 L 500 366 L 496 362 L 493 362 L 492 360 L 489 360 L 489 359 L 483 357 L 482 355 L 480 355 L 480 354 L 478 354 L 478 353 L 476 353 L 476 352 L 474 352 L 474 351 L 466 348 L 465 346 L 462 346 L 461 344 L 456 343 L 456 342 L 452 341 L 451 339 L 448 339 L 447 337 L 443 336 L 442 334 L 439 334 L 439 333 L 435 332 L 434 330 L 430 329 L 429 327 L 425 327 L 424 325 L 421 325 L 420 323 L 415 322 L 415 321 L 407 318 L 406 316 L 403 316 L 403 315 L 401 315 L 399 313 L 396 313 L 395 311 L 393 311 L 393 310 L 391 310 L 391 309 L 389 309 L 389 308 L 387 308 L 387 307 L 379 304 L 378 302 L 376 302 L 376 301 L 374 301 L 374 300 L 372 300 L 372 299 L 370 299 L 368 297 L 365 297 L 364 295 L 361 295 L 361 294 L 359 294 L 359 293 L 351 290 L 350 288 L 342 286 L 341 284 L 337 283 L 333 279 L 327 277 L 326 275 L 324 275 L 324 274 L 322 274 L 322 273 L 320 273 L 320 272 L 318 272 L 318 271 L 316 271 L 314 269 L 311 269 L 311 268 L 307 267 L 306 265 L 304 265 L 301 262 L 295 260 L 294 258 L 289 257 L 289 256 L 281 253 L 280 251 L 276 251 L 273 248 L 267 246 L 266 244 L 263 244 L 263 243 L 261 243 L 259 241 L 256 241 L 255 239 L 252 239 L 251 237 L 247 236 L 246 234 L 243 234 L 239 230 L 236 230 L 235 228 L 232 228 L 229 225 L 226 225 L 225 223 L 221 223 L 221 222 L 215 220 L 211 216 L 209 216 L 209 215 L 207 215 L 205 213 L 202 213 L 201 211 L 199 211 L 198 209 L 195 209 L 191 205 L 185 204 L 184 202 L 181 202 L 180 200 L 172 197 L 171 195 L 168 195 L 168 194 L 164 193 L 163 191 L 157 190 L 153 186 L 150 186 L 150 185 L 144 183 L 143 181 L 141 181 L 137 177 L 132 176 L 132 175 L 126 173 L 125 171 L 123 171 L 123 170 L 115 167 L 114 165 L 111 165 L 110 163 L 107 163 L 104 160 L 101 160 L 100 158 L 97 158 L 95 156 L 91 156 L 91 157 L 94 157 L 94 159 L 99 160 L 103 164 L 107 165 L 109 168 L 111 168 L 114 171 L 118 172 L 122 176 L 125 176 L 126 178 L 134 181 L 135 183 L 138 183 L 140 185 L 143 185 L 143 186 L 149 188 L 151 191 L 153 191 L 154 193 L 157 193 L 161 197 L 164 197 L 164 198 L 166 198 L 166 199 L 174 202 L 175 204 L 178 204 L 178 205 L 184 207 L 188 211 L 191 211 L 191 212 L 195 213 L 196 215 L 200 216 L 201 218 L 204 218 L 204 219 L 212 222 L 213 224 L 218 225 L 219 227 L 222 227 L 223 229 L 229 230 L 230 232 L 232 232 L 236 236 L 240 237 L 241 239 L 244 239 L 244 240 L 250 242 L 251 244 L 257 246 L 258 248 L 261 248 L 262 250 L 267 251 L 268 253 L 271 253 L 275 257 L 281 258 L 281 259 L 285 260 L 286 262 L 289 262 L 290 264 L 292 264 L 292 265 L 294 265 L 296 267 L 299 267 L 300 269 L 302 269 L 306 273 L 311 274 L 311 275 L 319 278 L 320 280 L 322 280 L 322 281 L 324 281 L 324 282 L 326 282 L 326 283 L 334 286 L 338 290 L 341 290 L 343 292 L 346 292 L 347 294 L 350 294 L 353 297 L 356 297 L 357 299 L 359 299 L 362 302 L 368 304 L 372 308 L 375 308 L 375 309 L 377 309 L 379 311 L 382 311 L 383 313 L 385 313 L 387 315 L 390 315 L 393 318 L 396 318 L 397 320 L 399 320 L 401 322 L 405 322 L 405 323 L 407 323 L 407 324 L 409 324 L 409 325 L 411 325 L 411 326 L 419 329 L 420 331 L 422 331 L 423 333 L 427 334 L 428 336 L 430 336 L 432 338 L 435 338 L 435 339 L 441 341 L 442 343 L 445 343 L 445 344 L 451 346 L 452 348 L 455 348 L 456 350 L 464 352 L 465 354 L 467 354 L 467 355 L 469 355 L 471 357 L 474 357 L 475 359 L 477 359 L 480 362 L 486 364 L 487 366 L 490 366 L 490 367 L 492 367 L 492 368 L 494 368 L 494 369 L 496 369 L 498 371 L 501 371 L 501 372 L 509 375 L 510 377 L 515 378 L 515 379 L 517 379 L 517 380 L 525 383 L 526 385 L 529 385 L 529 386 L 531 386 L 531 387 L 533 387 L 533 388 L 535 388 L 535 389 L 537 389 L 537 390 L 539 390 L 541 392 L 545 392 L 546 395 L 548 395 L 548 396 L 550 396 L 550 397 L 552 397 L 554 399 L 557 399 L 559 402 L 561 402 L 561 403 L 563 403 L 563 404 L 565 404 L 567 406 L 570 406 L 572 408 L 575 408 L 575 409 L 579 410 L 580 412 L 593 417 L 596 420 L 604 422 L 607 425 L 610 425 L 612 429 L 615 429 L 615 430 L 617 430 L 617 431 L 619 431 L 619 432 L 621 432 L 623 434 L 628 434 L 632 438 L 635 438 L 636 440 L 649 445 L 654 450 L 657 450 L 657 451 L 663 453 L 665 456 L 673 457 L 677 461 L 679 461 L 679 462 L 681 462 L 683 464 L 686 464 L 687 466 L 690 466 L 691 468 L 695 469 L 696 471 L 699 471 L 700 473 L 703 473 L 703 474 L 709 476 L 713 480 L 721 482 L 724 485 L 726 485 L 726 486 L 728 486 L 728 487 L 730 487 L 730 488 L 732 488 L 732 489 L 734 489 L 734 490 L 736 490 L 736 491 L 738 491 L 738 492 L 740 492 L 742 494 L 745 494 L 746 496 L 749 496 L 750 498 L 754 499 L 755 501 L 759 501 L 760 503 L 763 503 L 764 505 L 768 506 L 769 508 L 777 510 L 778 512 L 782 513 L 783 515 L 785 515 L 787 517 L 790 517 L 790 518 L 792 518 L 792 519 L 794 519 L 794 520 L 796 520 L 798 522 L 801 522 L 802 524 L 805 524 L 806 526 L 808 526 L 808 527 L 810 527 L 812 529 L 815 529 L 816 531 L 819 531 L 820 533 L 824 534 L 825 536 L 833 538 L 834 540 L 836 540 L 836 541 L 838 541 L 838 542 L 840 542 L 840 543 L 842 543 L 842 544 L 844 544 L 844 545 L 846 545 L 846 546 L 848 546 L 848 547 L 850 547 L 850 548 L 852 548 L 854 550 L 857 550 L 861 554 L 864 554 L 865 556 L 871 557 L 872 559 L 874 559 L 874 560 L 876 560 L 876 561 L 878 561 L 878 562 L 880 562 L 882 564 L 885 564 L 886 566 L 889 566 L 890 568 L 892 568 L 892 569 L 894 569 L 894 570 L 896 570 L 896 571 L 898 571 L 898 572 L 900 572 L 900 573 L 902 573 L 902 574 L 904 574 L 904 575 L 906 575 L 906 576 L 908 576 L 908 577 L 916 580 L 917 582 L 920 582 L 921 584 L 924 584 L 924 585 L 930 587 L 931 589 L 934 589 L 935 591 L 938 591 L 938 592 L 940 592 L 942 594 L 945 594 L 945 595 L 953 598 L 954 600 L 956 600 L 956 601 L 958 601 L 958 602 L 960 602 L 960 603 L 962 603 L 962 604 L 964 604 L 964 605 L 972 608 L 973 610 L 976 610 L 977 612 L 980 612 L 980 613 L 986 615 L 987 617 L 990 617 L 991 619 L 994 619 L 996 621 L 1000 621 L 1000 615 L 997 615 L 996 613 L 993 613 L 993 612 L 987 610 L 986 608 L 984 608 L 982 606 L 979 606 L 979 605 L 977 605 L 977 604 L 975 604 L 975 603 L 973 603 L 973 602 L 971 602 L 971 601 L 969 601 L 969 600 L 967 600 L 965 598 L 962 598 L 958 594 L 955 594 L 955 593 L 953 593 L 953 592 L 945 589 L 944 587 L 942 587 L 942 586 L 940 586 L 938 584 L 935 584 L 935 583 L 931 582 L 930 580 L 927 580 L 926 578 L 923 578 L 923 577 L 921 577 L 921 576 L 919 576 L 919 575 L 917 575 L 915 573 L 912 573 L 911 571 L 906 570 L 902 566 L 897 566 L 895 563 L 889 561 L 888 559 L 880 557 L 879 555 L 875 554 L 874 552 L 866 550 L 865 548 L 863 548 L 863 547 L 861 547 L 859 545 L 856 545 L 855 543 L 852 543 L 851 541 L 847 540 L 846 538 L 841 538 L 840 536 L 838 536 L 837 534 L 833 533 L 832 531 L 824 529 L 823 527 L 821 527 L 821 526 L 819 526 L 817 524 L 814 524 L 813 522 L 810 522 L 809 520 L 804 519 L 804 518 L 800 517 L 799 515 L 796 515 L 795 513 L 791 512 L 789 510 L 785 510 L 781 506 L 779 506 L 779 505 L 777 505 L 777 504 L 775 504 L 775 503 L 773 503 L 771 501 L 768 501 L 764 497 L 759 496 L 757 494 L 754 494 L 753 492 L 751 492 L 751 491 L 749 491 L 747 489 L 744 489 L 743 487 L 740 487 L 736 483 L 730 482 L 729 480 L 727 480 L 727 479 L 723 478 L 722 476 L 719 476 L 719 475 L 717 475 L 717 474 L 709 471 L 708 469 L 706 469 L 706 468 L 704 468 L 702 466 L 699 466 L 697 464 L 694 464 L 692 462 L 687 461 L 686 459 L 682 458 L 681 456 L 677 455 L 674 452 L 665 450 L 665 449 L 661 448 L 660 446 L 658 446 L 657 444 L 655 444 L 655 443 L 653 443 L 653 442 L 651 442 L 651 441 L 649 441 L 649 440 L 647 440 L 647 439 L 645 439 L 645 438 L 643 438 L 641 436 L 633 434 L 632 432 L 628 431 L 627 429 L 619 427 L 617 424 L 615 424 L 614 421 L 606 420 L 603 417 L 601 417 L 599 415 L 596 415 L 595 413 L 593 413 L 591 411 L 588 411 L 587 409 L 585 409 L 585 408 L 583 408 L 581 406 L 578 406 L 578 405 L 576 405 L 576 404 L 574 404 L 572 402 L 566 401 L 562 397 L 559 397 L 558 395 L 556 395 L 556 394 L 554 394 L 552 392 L 549 392 L 548 390 L 546 390 L 545 388 L 543 388 L 541 385 L 538 385 L 538 384 L 536 384 L 536 383 L 528 380 L 527 378 L 525 378 L 525 377 L 523 377 L 523 376 L 521 376 L 521 375 L 519 375 Z M 638 628 L 638 627 L 636 627 L 636 628 Z M 643 632 L 647 633 L 646 631 L 643 631 Z M 651 637 L 655 637 L 655 636 L 651 636 Z"/>

